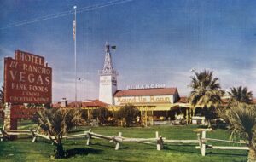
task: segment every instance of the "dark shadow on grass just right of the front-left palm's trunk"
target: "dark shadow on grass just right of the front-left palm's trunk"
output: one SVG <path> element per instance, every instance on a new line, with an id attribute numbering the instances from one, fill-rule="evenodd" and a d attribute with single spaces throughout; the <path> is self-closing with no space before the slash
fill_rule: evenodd
<path id="1" fill-rule="evenodd" d="M 73 148 L 73 149 L 67 149 L 66 150 L 66 158 L 71 158 L 71 157 L 76 156 L 76 155 L 88 155 L 90 153 L 99 154 L 99 153 L 102 153 L 102 150 L 94 149 L 94 148 Z"/>

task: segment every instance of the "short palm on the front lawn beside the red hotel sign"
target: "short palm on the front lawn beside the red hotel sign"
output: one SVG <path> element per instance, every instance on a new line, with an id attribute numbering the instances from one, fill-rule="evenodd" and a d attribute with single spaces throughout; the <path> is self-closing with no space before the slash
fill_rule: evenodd
<path id="1" fill-rule="evenodd" d="M 38 122 L 41 130 L 50 137 L 56 149 L 55 158 L 65 157 L 64 148 L 62 145 L 62 137 L 72 130 L 76 121 L 79 119 L 79 111 L 62 110 L 62 109 L 45 109 L 44 112 L 38 112 Z"/>

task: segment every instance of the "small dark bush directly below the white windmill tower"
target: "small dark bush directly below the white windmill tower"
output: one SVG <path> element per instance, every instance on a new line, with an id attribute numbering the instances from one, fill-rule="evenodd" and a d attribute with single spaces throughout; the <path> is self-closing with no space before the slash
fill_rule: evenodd
<path id="1" fill-rule="evenodd" d="M 109 117 L 113 117 L 113 113 L 108 110 L 106 107 L 99 107 L 92 111 L 94 118 L 98 119 L 99 124 L 103 125 L 108 122 Z"/>

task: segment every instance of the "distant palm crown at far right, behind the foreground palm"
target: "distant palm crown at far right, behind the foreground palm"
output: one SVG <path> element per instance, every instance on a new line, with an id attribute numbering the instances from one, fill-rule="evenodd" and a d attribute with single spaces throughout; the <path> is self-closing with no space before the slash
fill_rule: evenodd
<path id="1" fill-rule="evenodd" d="M 253 103 L 253 92 L 248 91 L 247 87 L 232 87 L 230 88 L 230 103 L 239 102 L 239 103 Z"/>

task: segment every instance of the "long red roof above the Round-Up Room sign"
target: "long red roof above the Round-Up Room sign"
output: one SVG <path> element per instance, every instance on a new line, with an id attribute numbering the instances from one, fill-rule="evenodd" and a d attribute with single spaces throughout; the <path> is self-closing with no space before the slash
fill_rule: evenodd
<path id="1" fill-rule="evenodd" d="M 137 96 L 137 95 L 174 95 L 177 88 L 159 88 L 159 89 L 137 89 L 137 90 L 118 90 L 114 96 Z"/>

